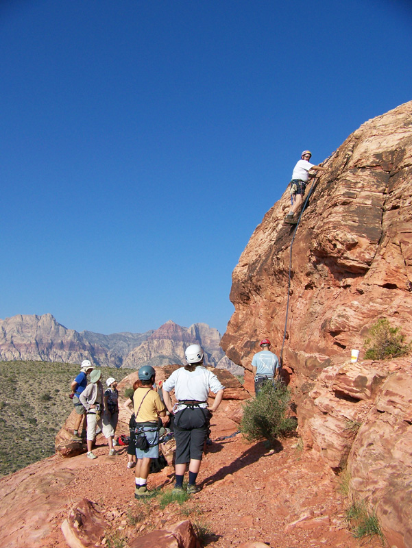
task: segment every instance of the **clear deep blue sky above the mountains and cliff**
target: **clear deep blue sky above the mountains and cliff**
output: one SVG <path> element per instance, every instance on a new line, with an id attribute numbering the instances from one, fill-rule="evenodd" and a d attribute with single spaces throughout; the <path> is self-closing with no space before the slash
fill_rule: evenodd
<path id="1" fill-rule="evenodd" d="M 302 149 L 412 99 L 397 0 L 3 0 L 0 318 L 223 334 Z"/>

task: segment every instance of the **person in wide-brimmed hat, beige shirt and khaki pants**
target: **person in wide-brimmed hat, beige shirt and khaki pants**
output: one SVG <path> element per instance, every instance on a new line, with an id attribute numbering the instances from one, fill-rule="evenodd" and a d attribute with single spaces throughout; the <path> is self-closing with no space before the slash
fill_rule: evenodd
<path id="1" fill-rule="evenodd" d="M 96 426 L 103 429 L 101 414 L 104 412 L 103 384 L 100 381 L 101 370 L 93 369 L 90 373 L 90 384 L 80 394 L 80 401 L 87 414 L 87 457 L 97 458 L 92 451 L 93 442 L 96 437 Z"/>

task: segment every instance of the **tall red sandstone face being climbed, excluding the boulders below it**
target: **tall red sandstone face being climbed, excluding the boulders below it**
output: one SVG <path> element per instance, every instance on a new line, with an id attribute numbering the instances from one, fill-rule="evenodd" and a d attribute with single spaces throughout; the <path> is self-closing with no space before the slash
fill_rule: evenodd
<path id="1" fill-rule="evenodd" d="M 291 166 L 292 167 L 292 166 Z M 293 369 L 351 348 L 380 316 L 412 336 L 412 102 L 363 124 L 317 179 L 293 244 L 284 360 Z M 256 343 L 279 349 L 287 304 L 289 190 L 233 272 L 235 312 L 222 347 L 251 369 Z"/>

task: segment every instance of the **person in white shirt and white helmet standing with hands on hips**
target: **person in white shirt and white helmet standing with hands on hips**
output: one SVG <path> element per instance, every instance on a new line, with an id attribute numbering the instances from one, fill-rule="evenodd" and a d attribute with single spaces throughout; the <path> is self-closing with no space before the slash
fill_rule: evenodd
<path id="1" fill-rule="evenodd" d="M 199 345 L 186 348 L 188 365 L 176 369 L 162 386 L 163 399 L 171 414 L 174 414 L 173 429 L 176 440 L 175 490 L 183 489 L 183 478 L 189 464 L 187 493 L 201 490 L 196 485 L 202 462 L 203 447 L 208 436 L 210 416 L 223 399 L 224 386 L 217 376 L 203 367 L 204 351 Z M 177 402 L 172 406 L 170 392 L 175 389 Z M 212 406 L 208 406 L 209 390 L 216 395 Z"/>

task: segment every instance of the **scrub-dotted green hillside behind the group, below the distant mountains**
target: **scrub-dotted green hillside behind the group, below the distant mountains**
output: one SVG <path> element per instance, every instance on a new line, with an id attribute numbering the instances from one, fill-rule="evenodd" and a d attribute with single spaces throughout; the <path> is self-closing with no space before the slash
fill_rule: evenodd
<path id="1" fill-rule="evenodd" d="M 75 364 L 0 362 L 0 476 L 54 454 L 54 439 L 73 410 Z M 118 381 L 130 369 L 101 368 Z"/>

